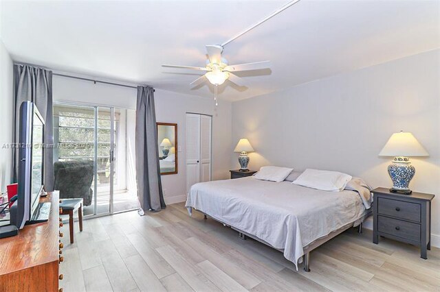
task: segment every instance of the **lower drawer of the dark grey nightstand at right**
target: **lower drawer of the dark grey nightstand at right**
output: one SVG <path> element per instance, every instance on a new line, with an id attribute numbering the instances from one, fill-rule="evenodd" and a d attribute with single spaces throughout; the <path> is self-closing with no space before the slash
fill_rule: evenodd
<path id="1" fill-rule="evenodd" d="M 420 242 L 420 225 L 398 219 L 379 216 L 379 232 L 398 236 L 402 239 Z"/>

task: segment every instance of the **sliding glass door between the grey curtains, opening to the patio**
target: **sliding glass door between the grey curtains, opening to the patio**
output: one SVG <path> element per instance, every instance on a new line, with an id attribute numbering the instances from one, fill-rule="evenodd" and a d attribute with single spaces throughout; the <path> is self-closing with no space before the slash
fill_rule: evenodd
<path id="1" fill-rule="evenodd" d="M 84 215 L 106 215 L 137 208 L 127 187 L 129 127 L 127 112 L 104 106 L 54 105 L 54 168 L 61 197 L 82 197 Z M 67 188 L 69 187 L 69 188 Z M 61 189 L 77 189 L 78 192 Z"/>

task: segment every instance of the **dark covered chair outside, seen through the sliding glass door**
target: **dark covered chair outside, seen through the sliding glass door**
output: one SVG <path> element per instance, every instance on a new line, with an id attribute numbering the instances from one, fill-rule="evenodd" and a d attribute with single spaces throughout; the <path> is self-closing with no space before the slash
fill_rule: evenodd
<path id="1" fill-rule="evenodd" d="M 60 199 L 83 199 L 84 206 L 91 205 L 94 180 L 92 160 L 72 160 L 54 163 L 54 189 L 60 191 Z"/>

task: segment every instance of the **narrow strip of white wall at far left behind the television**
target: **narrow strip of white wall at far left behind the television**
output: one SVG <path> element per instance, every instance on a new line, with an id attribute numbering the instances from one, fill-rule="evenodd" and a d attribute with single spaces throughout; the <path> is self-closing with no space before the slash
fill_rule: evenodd
<path id="1" fill-rule="evenodd" d="M 12 180 L 12 149 L 14 120 L 14 84 L 12 59 L 0 38 L 0 191 L 6 190 L 6 185 Z"/>

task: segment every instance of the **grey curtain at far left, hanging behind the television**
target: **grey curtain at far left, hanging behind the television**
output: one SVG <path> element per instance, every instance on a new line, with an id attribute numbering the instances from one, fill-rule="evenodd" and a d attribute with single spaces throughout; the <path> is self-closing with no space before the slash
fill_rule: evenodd
<path id="1" fill-rule="evenodd" d="M 23 101 L 32 101 L 45 120 L 45 145 L 53 145 L 52 71 L 28 65 L 14 65 L 14 143 L 19 143 L 19 114 Z M 13 149 L 14 182 L 18 179 L 19 149 Z M 44 149 L 44 186 L 54 188 L 54 157 L 52 147 Z"/>

